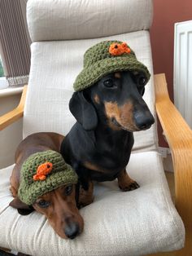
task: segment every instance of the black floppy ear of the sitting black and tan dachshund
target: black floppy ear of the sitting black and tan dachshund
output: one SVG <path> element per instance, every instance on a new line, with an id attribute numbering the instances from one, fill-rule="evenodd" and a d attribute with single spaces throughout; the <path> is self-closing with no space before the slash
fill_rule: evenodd
<path id="1" fill-rule="evenodd" d="M 69 102 L 69 109 L 76 121 L 81 123 L 85 130 L 94 130 L 98 125 L 98 116 L 93 104 L 89 103 L 83 91 L 74 92 Z"/>

